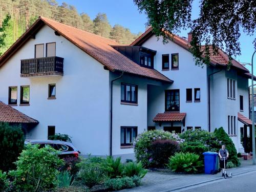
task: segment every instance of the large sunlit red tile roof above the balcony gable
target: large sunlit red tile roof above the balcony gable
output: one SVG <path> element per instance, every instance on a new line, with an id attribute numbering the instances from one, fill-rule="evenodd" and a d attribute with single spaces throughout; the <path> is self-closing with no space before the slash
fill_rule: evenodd
<path id="1" fill-rule="evenodd" d="M 6 62 L 10 55 L 21 47 L 31 36 L 35 35 L 39 28 L 44 25 L 48 25 L 58 34 L 70 40 L 74 45 L 102 63 L 102 65 L 112 72 L 121 71 L 155 80 L 173 82 L 157 70 L 141 67 L 112 48 L 111 45 L 118 45 L 114 40 L 82 31 L 45 17 L 39 17 L 2 57 L 0 57 L 0 67 Z M 84 65 L 86 65 L 86 63 Z"/>

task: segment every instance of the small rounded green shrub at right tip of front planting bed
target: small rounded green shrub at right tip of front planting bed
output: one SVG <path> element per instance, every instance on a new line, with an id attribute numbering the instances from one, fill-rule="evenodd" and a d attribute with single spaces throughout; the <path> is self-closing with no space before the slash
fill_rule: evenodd
<path id="1" fill-rule="evenodd" d="M 143 168 L 141 162 L 129 162 L 124 164 L 123 175 L 127 177 L 138 176 L 143 178 L 147 174 L 147 170 Z"/>

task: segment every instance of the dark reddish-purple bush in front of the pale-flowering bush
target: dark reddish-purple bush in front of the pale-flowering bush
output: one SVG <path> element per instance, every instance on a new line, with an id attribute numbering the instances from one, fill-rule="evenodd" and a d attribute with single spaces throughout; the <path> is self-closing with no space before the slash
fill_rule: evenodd
<path id="1" fill-rule="evenodd" d="M 170 156 L 180 151 L 180 146 L 177 141 L 170 139 L 157 139 L 150 145 L 151 166 L 163 167 L 168 163 Z"/>

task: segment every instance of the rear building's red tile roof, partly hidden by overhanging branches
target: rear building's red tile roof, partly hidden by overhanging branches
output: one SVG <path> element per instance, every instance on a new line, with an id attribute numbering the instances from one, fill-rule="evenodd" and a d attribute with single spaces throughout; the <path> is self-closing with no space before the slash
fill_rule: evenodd
<path id="1" fill-rule="evenodd" d="M 152 32 L 152 27 L 148 28 L 143 34 L 141 34 L 134 42 L 132 42 L 131 46 L 141 46 L 143 42 L 145 42 L 148 38 L 150 38 L 153 34 Z M 189 51 L 189 48 L 191 47 L 188 41 L 182 37 L 179 37 L 178 35 L 175 34 L 169 34 L 166 32 L 166 35 L 170 36 L 170 40 L 174 41 L 176 44 L 179 46 L 183 47 L 184 49 Z M 204 46 L 202 46 L 202 49 Z M 204 57 L 205 55 L 202 55 Z M 222 51 L 221 49 L 218 50 L 217 54 L 214 54 L 214 50 L 212 47 L 210 47 L 210 62 L 212 65 L 220 65 L 220 66 L 227 66 L 228 65 L 228 55 Z M 232 65 L 235 68 L 241 69 L 244 72 L 249 72 L 244 66 L 241 65 L 236 60 L 232 60 Z"/>

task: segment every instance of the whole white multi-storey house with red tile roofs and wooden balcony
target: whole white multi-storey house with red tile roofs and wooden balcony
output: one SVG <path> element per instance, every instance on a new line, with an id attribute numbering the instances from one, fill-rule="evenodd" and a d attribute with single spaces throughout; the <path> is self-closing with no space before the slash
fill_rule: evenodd
<path id="1" fill-rule="evenodd" d="M 227 71 L 227 62 L 219 51 L 197 67 L 185 39 L 163 45 L 151 28 L 119 46 L 39 17 L 0 58 L 0 101 L 39 122 L 20 122 L 27 139 L 68 134 L 82 155 L 131 158 L 130 143 L 147 129 L 220 126 L 242 152 L 249 71 L 235 60 Z"/>

